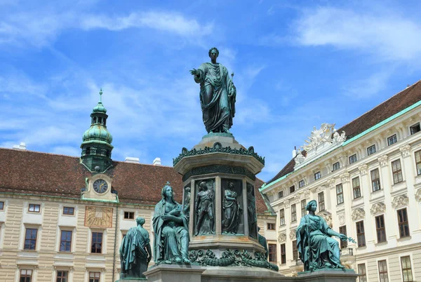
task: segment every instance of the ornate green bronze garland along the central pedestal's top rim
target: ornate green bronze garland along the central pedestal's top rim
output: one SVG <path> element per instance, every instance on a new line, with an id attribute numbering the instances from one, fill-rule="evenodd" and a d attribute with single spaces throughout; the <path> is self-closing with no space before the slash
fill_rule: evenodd
<path id="1" fill-rule="evenodd" d="M 248 149 L 235 149 L 232 147 L 222 147 L 220 142 L 215 142 L 213 147 L 204 147 L 203 149 L 192 149 L 188 150 L 187 148 L 182 148 L 181 154 L 173 159 L 173 166 L 175 166 L 182 158 L 186 156 L 199 156 L 203 154 L 212 154 L 212 153 L 227 153 L 227 154 L 236 154 L 236 155 L 243 155 L 243 156 L 253 156 L 257 159 L 260 163 L 265 165 L 265 157 L 259 156 L 254 152 L 254 147 L 251 146 Z"/>

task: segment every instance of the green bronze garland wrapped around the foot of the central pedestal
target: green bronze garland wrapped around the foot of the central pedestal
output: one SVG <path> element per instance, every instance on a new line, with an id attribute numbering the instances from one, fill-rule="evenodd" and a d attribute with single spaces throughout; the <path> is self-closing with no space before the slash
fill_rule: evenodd
<path id="1" fill-rule="evenodd" d="M 216 257 L 212 250 L 190 250 L 189 258 L 204 267 L 262 267 L 278 271 L 276 264 L 267 261 L 265 254 L 255 252 L 254 257 L 247 250 L 225 250 Z"/>

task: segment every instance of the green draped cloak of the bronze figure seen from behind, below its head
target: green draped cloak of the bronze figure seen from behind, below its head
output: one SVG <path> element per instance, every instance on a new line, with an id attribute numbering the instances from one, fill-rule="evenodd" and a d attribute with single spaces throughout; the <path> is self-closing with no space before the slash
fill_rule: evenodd
<path id="1" fill-rule="evenodd" d="M 132 267 L 140 264 L 140 259 L 147 259 L 145 250 L 149 244 L 149 234 L 143 227 L 132 227 L 128 230 L 120 246 L 121 271 L 128 272 Z"/>

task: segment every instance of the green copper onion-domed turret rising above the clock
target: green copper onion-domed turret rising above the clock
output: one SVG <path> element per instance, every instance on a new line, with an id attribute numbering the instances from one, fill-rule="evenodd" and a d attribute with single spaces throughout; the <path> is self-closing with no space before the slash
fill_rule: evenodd
<path id="1" fill-rule="evenodd" d="M 103 173 L 112 166 L 112 135 L 107 130 L 106 113 L 107 109 L 102 105 L 101 89 L 100 102 L 91 114 L 91 127 L 83 133 L 81 144 L 81 161 L 91 172 Z"/>

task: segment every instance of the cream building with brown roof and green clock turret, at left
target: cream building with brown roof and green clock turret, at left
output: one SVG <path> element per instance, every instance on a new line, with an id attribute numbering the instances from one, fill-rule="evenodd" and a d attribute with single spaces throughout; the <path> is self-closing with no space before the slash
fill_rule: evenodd
<path id="1" fill-rule="evenodd" d="M 102 94 L 102 92 L 100 92 Z M 106 282 L 119 278 L 119 246 L 135 218 L 153 241 L 154 206 L 167 181 L 183 199 L 172 167 L 112 160 L 107 110 L 98 102 L 81 158 L 0 149 L 0 280 Z M 276 215 L 258 192 L 260 234 L 276 257 Z"/>

